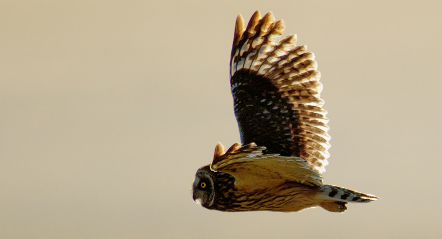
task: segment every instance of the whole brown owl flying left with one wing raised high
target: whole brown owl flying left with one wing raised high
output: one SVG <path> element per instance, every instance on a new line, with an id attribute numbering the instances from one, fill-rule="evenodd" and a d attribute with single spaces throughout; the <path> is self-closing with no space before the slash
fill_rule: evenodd
<path id="1" fill-rule="evenodd" d="M 193 199 L 220 211 L 299 211 L 320 206 L 344 212 L 348 202 L 377 197 L 324 184 L 330 136 L 314 55 L 280 40 L 284 21 L 256 11 L 246 29 L 238 15 L 230 57 L 230 88 L 241 135 L 192 185 Z"/>

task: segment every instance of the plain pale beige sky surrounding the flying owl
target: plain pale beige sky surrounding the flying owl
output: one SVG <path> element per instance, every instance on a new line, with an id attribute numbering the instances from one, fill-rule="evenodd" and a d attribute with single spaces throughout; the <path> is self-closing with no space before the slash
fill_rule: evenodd
<path id="1" fill-rule="evenodd" d="M 440 238 L 440 1 L 1 1 L 0 238 Z M 192 200 L 239 141 L 235 19 L 284 19 L 322 73 L 345 213 Z"/>

